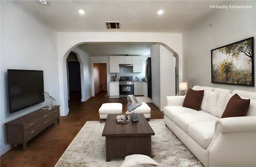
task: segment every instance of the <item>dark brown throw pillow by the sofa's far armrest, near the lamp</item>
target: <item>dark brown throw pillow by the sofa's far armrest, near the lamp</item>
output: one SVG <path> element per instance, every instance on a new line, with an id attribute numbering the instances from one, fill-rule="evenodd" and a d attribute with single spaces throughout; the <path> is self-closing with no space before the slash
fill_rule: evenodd
<path id="1" fill-rule="evenodd" d="M 189 88 L 182 106 L 199 111 L 203 97 L 204 90 L 193 90 Z"/>

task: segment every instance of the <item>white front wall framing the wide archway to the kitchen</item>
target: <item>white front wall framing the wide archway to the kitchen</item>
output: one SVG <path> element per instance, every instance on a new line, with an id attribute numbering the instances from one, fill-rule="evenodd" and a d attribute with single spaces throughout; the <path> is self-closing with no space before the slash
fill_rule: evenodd
<path id="1" fill-rule="evenodd" d="M 82 43 L 92 42 L 141 42 L 161 43 L 182 57 L 182 36 L 177 33 L 58 33 L 58 70 L 60 83 L 60 115 L 68 114 L 66 57 Z M 108 67 L 109 68 L 109 67 Z M 182 72 L 182 65 L 180 65 Z"/>

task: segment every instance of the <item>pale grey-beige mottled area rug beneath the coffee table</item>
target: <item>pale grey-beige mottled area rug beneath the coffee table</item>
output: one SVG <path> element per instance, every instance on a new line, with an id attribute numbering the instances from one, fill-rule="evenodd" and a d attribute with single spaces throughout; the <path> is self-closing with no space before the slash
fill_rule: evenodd
<path id="1" fill-rule="evenodd" d="M 148 122 L 155 132 L 152 136 L 152 159 L 165 167 L 202 166 L 186 146 L 165 126 L 163 119 Z M 106 162 L 105 122 L 87 121 L 62 154 L 55 167 L 118 167 L 124 158 Z M 125 125 L 124 125 L 125 126 Z"/>

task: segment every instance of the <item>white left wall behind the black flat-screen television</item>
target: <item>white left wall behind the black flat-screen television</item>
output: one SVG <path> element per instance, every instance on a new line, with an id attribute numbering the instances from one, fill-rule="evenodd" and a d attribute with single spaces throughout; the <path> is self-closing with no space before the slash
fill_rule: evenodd
<path id="1" fill-rule="evenodd" d="M 59 104 L 57 34 L 50 31 L 30 16 L 18 10 L 11 2 L 0 1 L 1 51 L 0 51 L 0 138 L 6 143 L 4 123 L 26 115 L 50 104 L 45 102 L 9 114 L 7 69 L 43 70 L 44 90 Z M 5 144 L 1 155 L 10 149 Z"/>

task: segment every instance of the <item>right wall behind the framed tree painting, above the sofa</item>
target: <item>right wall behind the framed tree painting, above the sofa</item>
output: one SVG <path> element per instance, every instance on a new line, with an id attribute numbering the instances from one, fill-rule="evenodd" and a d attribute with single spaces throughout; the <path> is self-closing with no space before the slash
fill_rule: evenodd
<path id="1" fill-rule="evenodd" d="M 252 5 L 252 9 L 219 9 L 200 24 L 182 33 L 184 79 L 194 85 L 256 91 L 256 87 L 211 83 L 211 49 L 254 37 L 254 80 L 256 79 L 256 1 L 231 1 L 227 5 Z M 255 82 L 254 82 L 255 83 Z M 255 83 L 256 84 L 256 83 Z"/>

